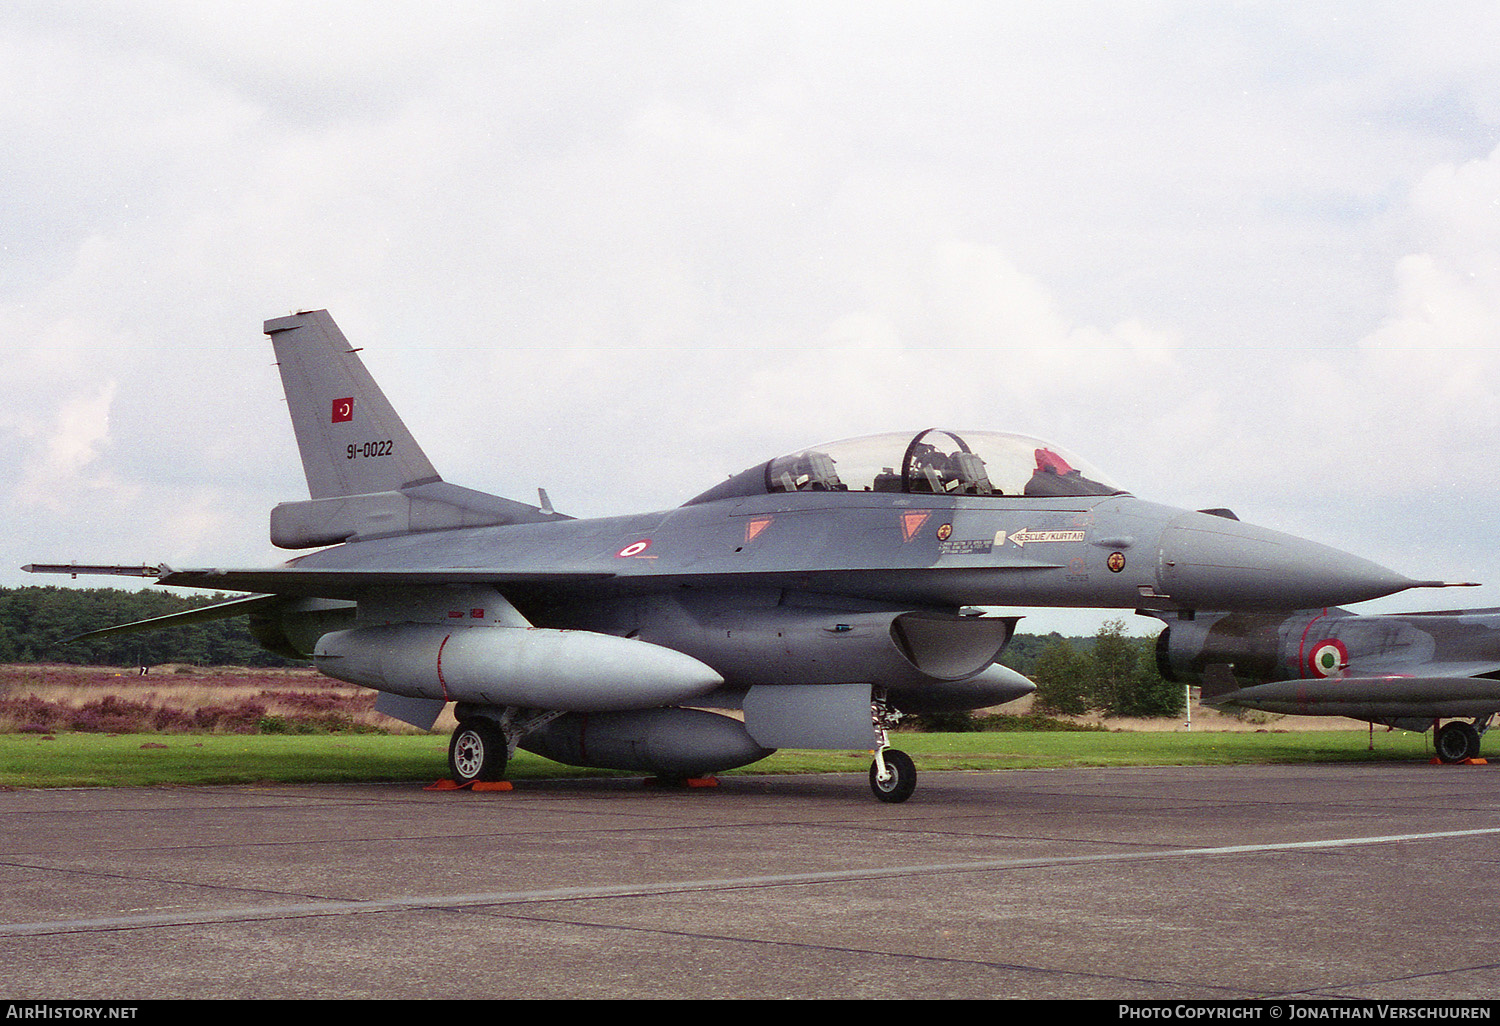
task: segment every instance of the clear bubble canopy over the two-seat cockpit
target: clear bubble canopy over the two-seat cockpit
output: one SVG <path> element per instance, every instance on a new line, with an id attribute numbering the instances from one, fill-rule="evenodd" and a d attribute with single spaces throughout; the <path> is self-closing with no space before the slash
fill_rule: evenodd
<path id="1" fill-rule="evenodd" d="M 693 502 L 771 492 L 908 492 L 926 495 L 1116 495 L 1120 489 L 1065 448 L 1024 435 L 930 428 L 867 435 L 778 456 L 736 474 Z"/>

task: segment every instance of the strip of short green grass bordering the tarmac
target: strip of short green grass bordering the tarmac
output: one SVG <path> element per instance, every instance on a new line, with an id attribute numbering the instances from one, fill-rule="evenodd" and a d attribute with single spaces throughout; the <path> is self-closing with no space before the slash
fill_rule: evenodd
<path id="1" fill-rule="evenodd" d="M 1374 750 L 1359 730 L 898 734 L 892 742 L 927 772 L 1431 758 L 1428 735 L 1402 730 L 1377 732 Z M 862 752 L 778 752 L 736 772 L 864 772 L 868 765 L 870 756 Z M 602 774 L 608 771 L 564 766 L 522 752 L 508 776 L 525 780 Z M 0 735 L 0 786 L 6 788 L 432 782 L 446 776 L 444 735 Z"/>

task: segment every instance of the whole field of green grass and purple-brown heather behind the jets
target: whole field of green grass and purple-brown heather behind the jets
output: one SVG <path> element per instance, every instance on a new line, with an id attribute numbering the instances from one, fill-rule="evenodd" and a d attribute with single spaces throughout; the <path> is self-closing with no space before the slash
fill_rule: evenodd
<path id="1" fill-rule="evenodd" d="M 122 668 L 0 666 L 0 788 L 432 782 L 447 776 L 452 714 L 438 720 L 435 734 L 424 734 L 380 716 L 374 702 L 374 692 L 309 669 L 158 666 L 141 676 Z M 1206 717 L 1202 724 L 1200 717 Z M 1359 726 L 1352 720 L 1308 717 L 1300 717 L 1298 729 L 1286 729 L 1294 720 L 1257 724 L 1200 710 L 1191 732 L 1176 722 L 1110 722 L 1110 729 L 1086 732 L 900 732 L 892 744 L 927 772 L 1431 758 L 1425 734 L 1378 730 L 1371 736 L 1348 729 Z M 862 774 L 868 765 L 864 752 L 778 752 L 736 772 Z M 522 752 L 508 776 L 608 772 Z"/>

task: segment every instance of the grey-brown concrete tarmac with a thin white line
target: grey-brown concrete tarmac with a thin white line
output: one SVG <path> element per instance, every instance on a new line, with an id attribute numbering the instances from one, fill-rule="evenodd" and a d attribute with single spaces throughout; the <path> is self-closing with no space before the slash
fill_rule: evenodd
<path id="1" fill-rule="evenodd" d="M 1492 999 L 1500 766 L 12 790 L 0 998 Z"/>

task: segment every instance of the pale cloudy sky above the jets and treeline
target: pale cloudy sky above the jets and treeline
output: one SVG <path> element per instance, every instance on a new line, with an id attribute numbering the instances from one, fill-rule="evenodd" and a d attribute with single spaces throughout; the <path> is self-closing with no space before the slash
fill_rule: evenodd
<path id="1" fill-rule="evenodd" d="M 446 480 L 564 513 L 1018 430 L 1484 584 L 1360 610 L 1500 606 L 1497 38 L 1490 0 L 10 0 L 0 586 L 288 558 L 261 322 L 326 308 Z"/>

